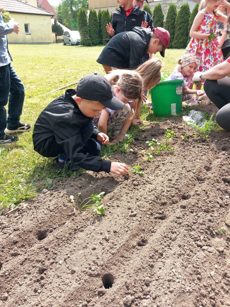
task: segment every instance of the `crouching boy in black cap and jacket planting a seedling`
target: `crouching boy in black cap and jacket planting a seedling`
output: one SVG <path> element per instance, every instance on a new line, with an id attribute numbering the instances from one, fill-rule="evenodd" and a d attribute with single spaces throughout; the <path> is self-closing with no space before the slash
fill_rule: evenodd
<path id="1" fill-rule="evenodd" d="M 109 138 L 92 122 L 105 107 L 119 110 L 123 106 L 124 103 L 113 96 L 105 77 L 96 73 L 87 75 L 75 90 L 66 90 L 65 95 L 52 101 L 41 112 L 34 125 L 34 150 L 43 157 L 59 156 L 56 169 L 67 165 L 67 169 L 72 171 L 83 168 L 118 175 L 128 173 L 125 164 L 103 161 L 98 157 L 101 152 L 99 142 L 107 144 Z"/>

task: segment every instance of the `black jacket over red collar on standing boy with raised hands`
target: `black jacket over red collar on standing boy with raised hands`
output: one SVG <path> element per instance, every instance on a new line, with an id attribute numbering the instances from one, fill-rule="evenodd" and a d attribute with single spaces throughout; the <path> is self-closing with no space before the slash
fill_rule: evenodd
<path id="1" fill-rule="evenodd" d="M 132 31 L 134 27 L 140 27 L 142 21 L 145 21 L 145 14 L 145 11 L 141 10 L 139 6 L 135 5 L 132 12 L 126 16 L 125 11 L 120 6 L 120 8 L 113 13 L 111 21 L 115 34 L 125 31 Z M 152 29 L 152 22 L 150 27 Z"/>

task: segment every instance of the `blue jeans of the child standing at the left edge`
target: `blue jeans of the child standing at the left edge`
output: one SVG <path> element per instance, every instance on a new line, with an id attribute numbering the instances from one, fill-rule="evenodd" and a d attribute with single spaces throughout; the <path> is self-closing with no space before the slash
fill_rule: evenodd
<path id="1" fill-rule="evenodd" d="M 10 64 L 0 66 L 0 137 L 5 134 L 6 125 L 17 126 L 24 98 L 24 86 L 13 67 Z M 8 100 L 8 118 L 6 121 L 5 106 Z"/>

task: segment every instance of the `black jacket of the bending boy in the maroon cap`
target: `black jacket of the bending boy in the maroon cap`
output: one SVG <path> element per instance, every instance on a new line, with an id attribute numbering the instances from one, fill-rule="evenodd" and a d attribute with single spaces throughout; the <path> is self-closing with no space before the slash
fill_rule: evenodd
<path id="1" fill-rule="evenodd" d="M 117 68 L 134 69 L 148 60 L 148 44 L 151 38 L 151 29 L 135 27 L 132 31 L 118 33 L 111 38 L 99 55 L 97 62 Z"/>

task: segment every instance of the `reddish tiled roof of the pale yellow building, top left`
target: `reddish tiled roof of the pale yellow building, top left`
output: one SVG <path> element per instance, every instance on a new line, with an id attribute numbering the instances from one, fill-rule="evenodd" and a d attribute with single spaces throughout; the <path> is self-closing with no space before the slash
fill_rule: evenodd
<path id="1" fill-rule="evenodd" d="M 1 6 L 10 13 L 25 13 L 34 15 L 49 15 L 53 16 L 53 13 L 42 10 L 36 6 L 22 2 L 20 0 L 1 0 Z"/>

